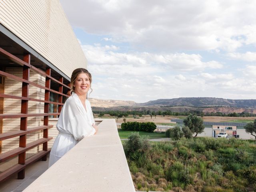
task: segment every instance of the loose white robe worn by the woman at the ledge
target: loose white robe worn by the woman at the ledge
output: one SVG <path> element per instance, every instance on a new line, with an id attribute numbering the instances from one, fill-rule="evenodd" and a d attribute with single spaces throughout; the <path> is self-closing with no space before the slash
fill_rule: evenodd
<path id="1" fill-rule="evenodd" d="M 50 152 L 49 167 L 73 148 L 82 138 L 92 136 L 95 124 L 90 102 L 86 100 L 86 110 L 76 93 L 66 100 L 56 124 L 59 131 Z"/>

